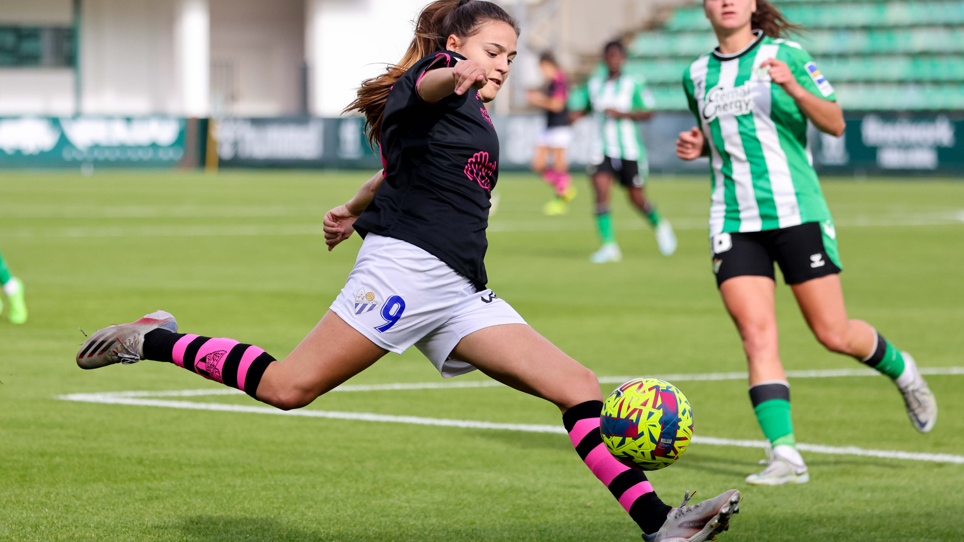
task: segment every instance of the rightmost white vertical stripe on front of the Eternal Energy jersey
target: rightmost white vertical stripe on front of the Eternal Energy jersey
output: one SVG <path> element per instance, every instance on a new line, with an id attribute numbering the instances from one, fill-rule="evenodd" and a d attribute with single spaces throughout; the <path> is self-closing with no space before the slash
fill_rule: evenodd
<path id="1" fill-rule="evenodd" d="M 779 51 L 779 44 L 761 45 L 757 52 L 757 58 L 753 61 L 753 73 L 758 72 L 758 68 L 764 61 L 777 58 L 777 52 Z M 756 78 L 757 75 L 753 75 L 753 77 Z M 790 226 L 801 224 L 802 219 L 800 218 L 800 205 L 796 201 L 793 178 L 790 176 L 790 163 L 787 161 L 787 153 L 780 146 L 776 122 L 773 122 L 773 119 L 770 118 L 773 105 L 771 85 L 770 81 L 761 81 L 757 84 L 759 90 L 754 95 L 756 103 L 754 103 L 755 107 L 753 108 L 753 121 L 757 128 L 757 139 L 760 140 L 760 146 L 763 148 L 763 159 L 770 176 L 770 190 L 773 191 L 773 203 L 777 207 L 780 228 L 790 228 Z"/>

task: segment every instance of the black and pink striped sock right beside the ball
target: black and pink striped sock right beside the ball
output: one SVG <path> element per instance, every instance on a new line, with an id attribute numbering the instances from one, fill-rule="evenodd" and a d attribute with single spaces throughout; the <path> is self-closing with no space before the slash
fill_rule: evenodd
<path id="1" fill-rule="evenodd" d="M 662 527 L 672 506 L 656 497 L 646 474 L 630 469 L 609 453 L 600 433 L 602 413 L 603 401 L 586 401 L 567 410 L 562 421 L 576 452 L 589 470 L 609 488 L 639 528 L 652 534 Z"/>

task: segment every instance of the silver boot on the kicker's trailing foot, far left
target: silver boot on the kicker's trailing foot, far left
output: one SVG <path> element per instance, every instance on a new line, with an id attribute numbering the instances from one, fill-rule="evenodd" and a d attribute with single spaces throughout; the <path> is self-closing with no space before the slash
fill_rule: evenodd
<path id="1" fill-rule="evenodd" d="M 177 332 L 177 320 L 164 311 L 151 312 L 136 322 L 97 330 L 77 351 L 80 368 L 136 364 L 144 359 L 144 336 L 155 329 Z"/>

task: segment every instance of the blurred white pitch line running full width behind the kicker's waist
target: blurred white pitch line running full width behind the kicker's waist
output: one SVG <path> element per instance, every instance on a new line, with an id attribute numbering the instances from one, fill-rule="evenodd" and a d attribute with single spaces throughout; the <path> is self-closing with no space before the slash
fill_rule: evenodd
<path id="1" fill-rule="evenodd" d="M 209 215 L 202 215 L 209 216 Z M 281 216 L 269 213 L 261 216 Z M 320 216 L 320 215 L 319 215 Z M 882 216 L 854 216 L 837 221 L 840 228 L 942 226 L 964 224 L 964 210 L 938 213 L 917 213 Z M 680 218 L 673 221 L 677 230 L 707 230 L 707 219 Z M 643 230 L 640 221 L 618 224 L 619 230 Z M 493 232 L 520 231 L 582 231 L 591 230 L 588 223 L 556 222 L 552 220 L 494 221 Z M 321 223 L 253 226 L 250 224 L 214 226 L 105 226 L 67 228 L 12 228 L 0 230 L 0 237 L 221 237 L 259 235 L 321 235 Z"/>

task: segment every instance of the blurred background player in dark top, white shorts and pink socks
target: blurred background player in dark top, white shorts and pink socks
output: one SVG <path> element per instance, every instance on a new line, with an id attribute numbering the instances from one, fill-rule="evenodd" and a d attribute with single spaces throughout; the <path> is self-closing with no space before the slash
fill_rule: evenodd
<path id="1" fill-rule="evenodd" d="M 566 73 L 559 68 L 552 53 L 545 52 L 539 58 L 539 68 L 549 81 L 546 92 L 529 91 L 529 103 L 546 110 L 546 129 L 539 134 L 535 155 L 532 157 L 532 171 L 543 176 L 555 191 L 555 198 L 546 203 L 543 212 L 548 215 L 566 214 L 569 203 L 576 198 L 573 177 L 569 175 L 569 143 L 573 139 L 569 126 L 569 87 Z M 549 167 L 549 162 L 552 167 Z"/>

